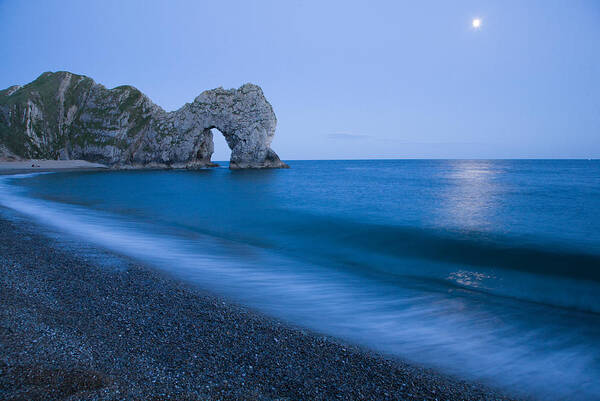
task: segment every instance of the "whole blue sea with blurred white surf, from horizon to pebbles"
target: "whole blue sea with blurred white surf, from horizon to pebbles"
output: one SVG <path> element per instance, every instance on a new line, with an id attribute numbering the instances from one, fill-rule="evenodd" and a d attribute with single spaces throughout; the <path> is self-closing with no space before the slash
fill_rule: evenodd
<path id="1" fill-rule="evenodd" d="M 600 399 L 600 162 L 296 161 L 0 177 L 0 204 L 268 314 Z"/>

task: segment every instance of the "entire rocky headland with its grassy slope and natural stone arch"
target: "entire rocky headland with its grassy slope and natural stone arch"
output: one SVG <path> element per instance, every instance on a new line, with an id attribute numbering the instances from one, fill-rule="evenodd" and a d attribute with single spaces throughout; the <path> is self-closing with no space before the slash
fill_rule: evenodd
<path id="1" fill-rule="evenodd" d="M 83 159 L 115 168 L 213 165 L 212 128 L 231 148 L 230 168 L 285 168 L 269 145 L 277 119 L 260 87 L 202 92 L 166 112 L 132 86 L 106 89 L 69 72 L 46 72 L 0 91 L 5 158 Z"/>

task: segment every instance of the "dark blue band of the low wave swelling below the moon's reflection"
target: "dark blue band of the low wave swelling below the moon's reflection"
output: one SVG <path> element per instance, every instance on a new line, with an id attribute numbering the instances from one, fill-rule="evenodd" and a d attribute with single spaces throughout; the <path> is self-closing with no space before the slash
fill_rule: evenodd
<path id="1" fill-rule="evenodd" d="M 318 247 L 332 242 L 348 249 L 398 258 L 421 258 L 458 265 L 511 269 L 600 281 L 600 253 L 543 238 L 511 238 L 493 233 L 377 225 L 299 214 L 280 231 L 311 237 Z M 292 228 L 290 228 L 292 227 Z"/>

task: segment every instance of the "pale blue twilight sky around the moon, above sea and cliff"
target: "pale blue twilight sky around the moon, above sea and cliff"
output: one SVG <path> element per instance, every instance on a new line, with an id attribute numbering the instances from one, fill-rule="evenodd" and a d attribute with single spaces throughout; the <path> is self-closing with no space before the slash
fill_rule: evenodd
<path id="1" fill-rule="evenodd" d="M 68 70 L 167 110 L 256 83 L 283 159 L 600 157 L 595 0 L 0 0 L 0 54 L 0 87 Z"/>

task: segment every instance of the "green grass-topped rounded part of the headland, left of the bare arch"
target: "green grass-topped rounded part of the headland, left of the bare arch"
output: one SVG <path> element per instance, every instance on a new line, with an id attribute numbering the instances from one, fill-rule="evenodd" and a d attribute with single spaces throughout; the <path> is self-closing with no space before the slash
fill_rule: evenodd
<path id="1" fill-rule="evenodd" d="M 110 132 L 134 137 L 150 120 L 144 95 L 132 86 L 108 90 L 83 75 L 59 71 L 15 89 L 0 91 L 0 143 L 23 157 L 55 159 L 73 146 L 127 149 L 123 135 Z"/>

